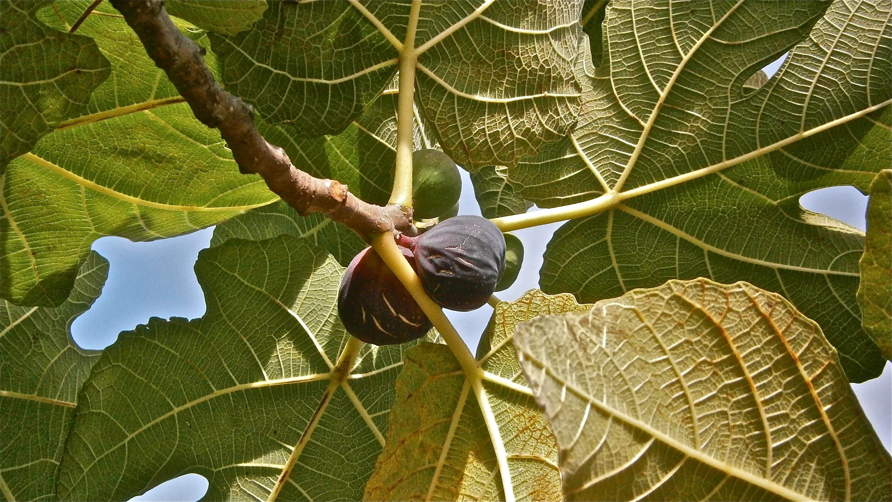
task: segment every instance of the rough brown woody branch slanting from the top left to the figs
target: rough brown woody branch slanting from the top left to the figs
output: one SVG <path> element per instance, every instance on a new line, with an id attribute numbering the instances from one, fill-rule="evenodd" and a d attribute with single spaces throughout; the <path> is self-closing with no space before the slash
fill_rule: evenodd
<path id="1" fill-rule="evenodd" d="M 218 128 L 242 173 L 263 177 L 269 189 L 301 215 L 320 212 L 350 227 L 367 242 L 394 229 L 413 229 L 411 210 L 401 205 L 376 206 L 359 200 L 333 179 L 320 179 L 297 169 L 282 148 L 269 144 L 254 127 L 253 111 L 227 93 L 204 64 L 204 49 L 184 36 L 161 0 L 111 0 L 124 15 L 149 57 L 192 107 L 195 117 Z"/>

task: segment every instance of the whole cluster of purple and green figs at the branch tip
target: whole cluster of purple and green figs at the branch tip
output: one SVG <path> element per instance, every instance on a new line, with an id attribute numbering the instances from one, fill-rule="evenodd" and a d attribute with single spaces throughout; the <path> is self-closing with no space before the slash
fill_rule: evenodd
<path id="1" fill-rule="evenodd" d="M 523 244 L 508 235 L 507 246 L 499 227 L 486 218 L 456 216 L 461 177 L 445 153 L 419 150 L 412 158 L 415 216 L 427 221 L 418 225 L 421 235 L 398 237 L 402 255 L 438 305 L 478 309 L 497 286 L 504 289 L 514 282 Z M 347 267 L 337 307 L 347 331 L 375 345 L 409 342 L 432 327 L 417 301 L 372 248 L 360 252 Z"/>

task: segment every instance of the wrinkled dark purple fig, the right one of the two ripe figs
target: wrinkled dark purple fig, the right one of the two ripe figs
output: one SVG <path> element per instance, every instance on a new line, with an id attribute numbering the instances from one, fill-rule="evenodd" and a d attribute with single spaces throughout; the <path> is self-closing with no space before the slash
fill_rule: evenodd
<path id="1" fill-rule="evenodd" d="M 431 299 L 451 310 L 474 310 L 490 299 L 505 271 L 505 238 L 486 218 L 459 215 L 415 239 L 415 262 Z"/>

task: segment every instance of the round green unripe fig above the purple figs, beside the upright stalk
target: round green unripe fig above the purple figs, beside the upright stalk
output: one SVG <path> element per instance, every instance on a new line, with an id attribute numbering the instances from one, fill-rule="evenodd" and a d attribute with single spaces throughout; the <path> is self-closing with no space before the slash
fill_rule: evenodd
<path id="1" fill-rule="evenodd" d="M 415 218 L 437 218 L 458 204 L 461 175 L 449 155 L 439 150 L 412 152 L 412 207 Z"/>

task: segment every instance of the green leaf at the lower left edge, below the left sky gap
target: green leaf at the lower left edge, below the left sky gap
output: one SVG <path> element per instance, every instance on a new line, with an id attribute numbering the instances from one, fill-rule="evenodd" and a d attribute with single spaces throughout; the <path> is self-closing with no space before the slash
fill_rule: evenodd
<path id="1" fill-rule="evenodd" d="M 75 289 L 54 309 L 0 300 L 0 491 L 6 500 L 54 500 L 62 448 L 99 350 L 71 339 L 71 322 L 99 296 L 108 261 L 91 252 Z"/>

